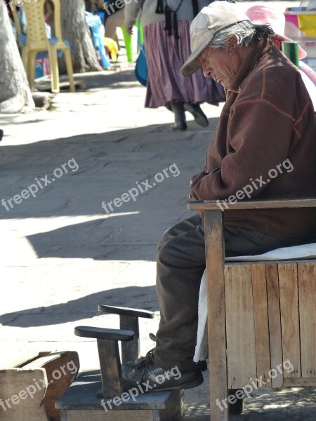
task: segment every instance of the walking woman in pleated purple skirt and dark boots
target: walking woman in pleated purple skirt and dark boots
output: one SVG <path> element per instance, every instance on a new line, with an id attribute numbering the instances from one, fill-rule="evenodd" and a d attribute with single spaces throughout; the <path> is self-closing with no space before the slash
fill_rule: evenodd
<path id="1" fill-rule="evenodd" d="M 199 126 L 208 126 L 199 104 L 225 101 L 223 87 L 206 79 L 201 69 L 187 78 L 180 75 L 180 67 L 191 53 L 190 23 L 209 4 L 209 0 L 138 0 L 125 4 L 124 22 L 129 34 L 141 13 L 148 67 L 145 107 L 164 105 L 170 109 L 175 130 L 186 130 L 185 111 Z"/>

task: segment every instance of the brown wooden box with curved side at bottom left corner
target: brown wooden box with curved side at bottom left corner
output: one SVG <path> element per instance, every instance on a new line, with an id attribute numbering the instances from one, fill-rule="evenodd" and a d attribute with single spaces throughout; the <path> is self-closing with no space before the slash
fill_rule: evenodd
<path id="1" fill-rule="evenodd" d="M 77 352 L 40 352 L 0 370 L 0 420 L 59 421 L 55 401 L 79 371 Z"/>

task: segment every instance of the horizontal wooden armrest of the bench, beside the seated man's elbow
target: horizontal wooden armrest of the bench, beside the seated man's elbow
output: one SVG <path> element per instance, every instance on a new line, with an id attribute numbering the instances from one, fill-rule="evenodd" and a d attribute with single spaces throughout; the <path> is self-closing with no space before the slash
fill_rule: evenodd
<path id="1" fill-rule="evenodd" d="M 220 205 L 220 206 L 219 206 Z M 242 210 L 242 209 L 277 209 L 277 208 L 316 208 L 316 199 L 254 199 L 229 203 L 222 200 L 190 201 L 190 210 Z"/>

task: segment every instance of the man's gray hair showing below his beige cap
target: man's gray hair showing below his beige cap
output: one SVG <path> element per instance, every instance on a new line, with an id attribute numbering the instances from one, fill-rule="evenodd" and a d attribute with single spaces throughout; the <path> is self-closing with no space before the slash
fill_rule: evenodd
<path id="1" fill-rule="evenodd" d="M 268 25 L 256 25 L 250 20 L 243 20 L 218 31 L 213 36 L 208 47 L 223 49 L 234 34 L 237 36 L 237 46 L 241 48 L 249 46 L 254 41 L 261 41 L 267 38 L 269 35 L 274 34 L 274 31 Z"/>

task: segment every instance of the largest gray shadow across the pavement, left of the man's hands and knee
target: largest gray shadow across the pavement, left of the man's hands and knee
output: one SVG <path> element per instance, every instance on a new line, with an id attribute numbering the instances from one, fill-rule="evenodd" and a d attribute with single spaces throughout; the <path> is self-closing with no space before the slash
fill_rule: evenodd
<path id="1" fill-rule="evenodd" d="M 0 219 L 29 218 L 32 228 L 26 238 L 39 258 L 155 260 L 162 233 L 187 213 L 188 180 L 201 168 L 211 137 L 211 131 L 200 132 L 172 133 L 169 124 L 163 124 L 3 144 L 0 196 L 6 206 L 0 206 Z M 179 148 L 185 148 L 187 156 L 179 156 Z M 70 168 L 71 160 L 77 166 Z M 173 163 L 178 173 L 169 171 L 169 177 L 154 186 L 154 175 Z M 67 173 L 54 177 L 62 164 Z M 137 192 L 137 185 L 147 179 L 150 188 Z M 12 200 L 31 185 L 38 189 L 35 197 L 18 204 Z M 128 202 L 115 207 L 114 199 L 131 189 L 137 197 L 130 194 Z M 103 202 L 112 203 L 112 210 L 102 208 Z M 53 225 L 37 221 L 56 217 L 60 220 Z"/>

